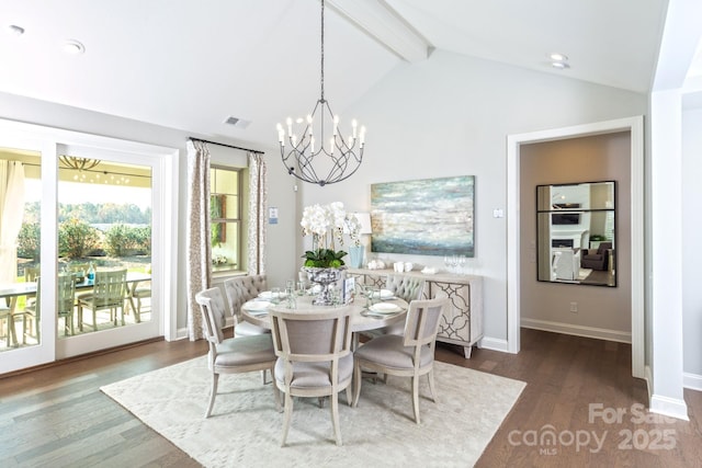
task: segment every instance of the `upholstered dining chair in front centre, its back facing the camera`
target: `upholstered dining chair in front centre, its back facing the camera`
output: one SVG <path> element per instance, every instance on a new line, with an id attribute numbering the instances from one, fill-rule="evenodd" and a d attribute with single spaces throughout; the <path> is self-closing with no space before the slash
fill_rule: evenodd
<path id="1" fill-rule="evenodd" d="M 341 445 L 339 391 L 351 404 L 351 308 L 317 313 L 272 310 L 271 331 L 278 361 L 274 381 L 285 393 L 283 436 L 285 446 L 293 415 L 293 397 L 329 397 L 337 445 Z"/>

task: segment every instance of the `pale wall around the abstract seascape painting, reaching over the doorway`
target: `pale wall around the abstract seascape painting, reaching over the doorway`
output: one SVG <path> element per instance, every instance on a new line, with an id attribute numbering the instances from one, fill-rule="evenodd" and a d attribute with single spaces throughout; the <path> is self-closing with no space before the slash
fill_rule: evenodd
<path id="1" fill-rule="evenodd" d="M 506 208 L 507 136 L 645 113 L 643 94 L 437 50 L 421 64 L 398 66 L 344 112 L 367 127 L 363 165 L 339 184 L 305 184 L 303 205 L 341 201 L 367 210 L 372 183 L 475 175 L 469 267 L 485 276 L 485 334 L 505 341 L 507 224 L 492 209 Z M 443 267 L 440 258 L 390 259 Z"/>

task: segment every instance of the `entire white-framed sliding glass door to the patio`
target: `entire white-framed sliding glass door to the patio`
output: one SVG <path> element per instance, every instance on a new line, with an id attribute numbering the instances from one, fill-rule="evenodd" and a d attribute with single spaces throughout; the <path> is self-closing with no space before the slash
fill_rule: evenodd
<path id="1" fill-rule="evenodd" d="M 0 133 L 0 374 L 172 336 L 177 151 L 3 126 L 14 132 Z M 8 189 L 9 167 L 22 190 Z"/>

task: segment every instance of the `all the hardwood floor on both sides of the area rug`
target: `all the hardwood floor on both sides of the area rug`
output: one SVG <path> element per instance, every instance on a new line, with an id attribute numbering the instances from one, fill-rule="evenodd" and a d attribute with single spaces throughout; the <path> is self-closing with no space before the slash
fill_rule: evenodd
<path id="1" fill-rule="evenodd" d="M 521 340 L 518 355 L 471 359 L 438 345 L 440 361 L 528 383 L 478 467 L 699 466 L 702 392 L 684 392 L 689 422 L 648 414 L 630 345 L 528 329 Z M 100 387 L 205 353 L 204 341 L 155 342 L 0 378 L 0 466 L 199 466 Z"/>

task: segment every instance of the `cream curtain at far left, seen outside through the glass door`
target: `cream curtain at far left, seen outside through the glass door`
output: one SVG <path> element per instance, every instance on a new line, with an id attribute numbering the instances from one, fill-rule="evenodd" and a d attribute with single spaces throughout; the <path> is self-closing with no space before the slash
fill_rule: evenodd
<path id="1" fill-rule="evenodd" d="M 0 284 L 18 279 L 18 235 L 24 216 L 24 165 L 0 161 Z"/>

